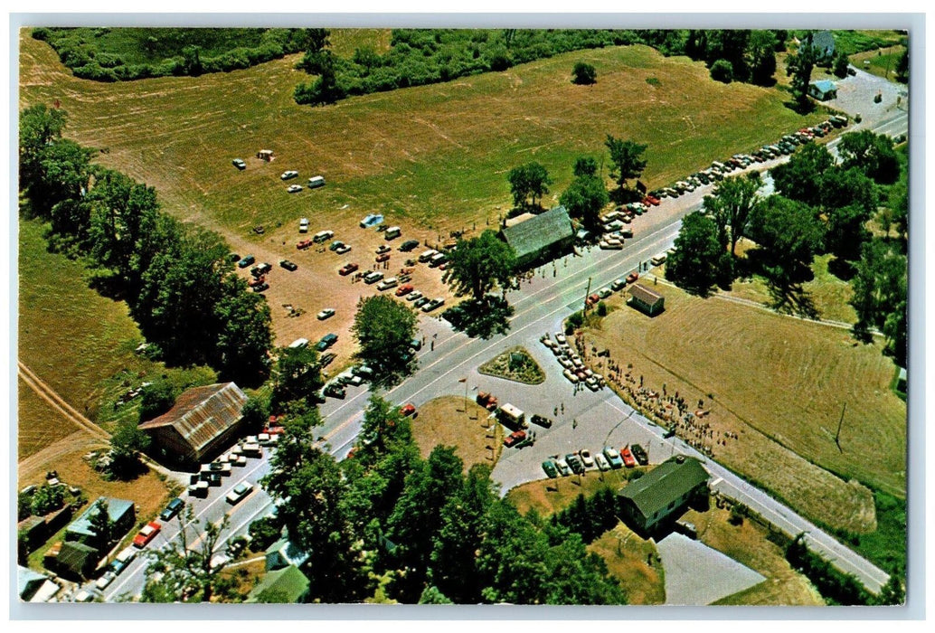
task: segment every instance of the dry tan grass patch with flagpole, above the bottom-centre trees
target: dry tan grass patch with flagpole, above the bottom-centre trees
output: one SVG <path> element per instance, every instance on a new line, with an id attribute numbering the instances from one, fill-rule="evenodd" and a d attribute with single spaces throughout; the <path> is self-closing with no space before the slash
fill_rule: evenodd
<path id="1" fill-rule="evenodd" d="M 453 446 L 465 471 L 475 464 L 494 468 L 503 448 L 503 431 L 499 424 L 487 420 L 488 415 L 490 411 L 472 400 L 468 400 L 466 412 L 463 396 L 441 396 L 419 407 L 412 420 L 412 437 L 423 457 L 439 444 Z M 492 425 L 493 433 L 488 430 Z"/>

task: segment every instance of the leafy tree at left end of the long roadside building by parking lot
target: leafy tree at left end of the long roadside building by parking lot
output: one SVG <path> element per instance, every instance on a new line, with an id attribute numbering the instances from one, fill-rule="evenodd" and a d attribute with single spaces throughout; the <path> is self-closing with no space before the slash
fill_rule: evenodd
<path id="1" fill-rule="evenodd" d="M 447 277 L 454 294 L 471 295 L 484 303 L 497 286 L 504 291 L 515 283 L 516 255 L 512 247 L 491 230 L 478 237 L 459 239 L 449 256 Z"/>

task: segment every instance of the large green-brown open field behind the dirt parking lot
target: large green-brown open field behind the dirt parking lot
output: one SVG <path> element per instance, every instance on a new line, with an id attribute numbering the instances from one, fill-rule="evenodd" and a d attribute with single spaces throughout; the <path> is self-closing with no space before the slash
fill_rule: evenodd
<path id="1" fill-rule="evenodd" d="M 296 56 L 223 75 L 99 84 L 71 77 L 48 45 L 21 42 L 22 107 L 59 99 L 67 135 L 107 148 L 100 162 L 154 185 L 180 218 L 241 237 L 344 205 L 442 231 L 496 223 L 511 206 L 512 166 L 546 165 L 557 195 L 575 157 L 605 154 L 608 133 L 649 145 L 643 180 L 654 187 L 820 118 L 784 108 L 777 91 L 712 81 L 703 64 L 643 46 L 308 108 L 292 98 L 306 80 Z M 569 82 L 579 60 L 597 67 L 597 85 Z M 251 158 L 259 149 L 279 159 L 261 164 Z M 248 169 L 234 169 L 234 157 L 250 159 Z M 324 174 L 328 186 L 285 194 L 278 176 L 288 168 Z"/>

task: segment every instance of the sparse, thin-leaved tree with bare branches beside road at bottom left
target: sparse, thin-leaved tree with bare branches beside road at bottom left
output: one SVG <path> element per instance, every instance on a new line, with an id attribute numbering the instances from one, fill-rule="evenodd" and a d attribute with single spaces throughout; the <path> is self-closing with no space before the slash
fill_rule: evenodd
<path id="1" fill-rule="evenodd" d="M 224 566 L 212 565 L 212 561 L 221 553 L 230 517 L 225 514 L 218 524 L 199 521 L 189 506 L 184 525 L 186 528 L 163 547 L 146 551 L 150 563 L 140 601 L 210 602 L 223 586 L 220 573 Z"/>

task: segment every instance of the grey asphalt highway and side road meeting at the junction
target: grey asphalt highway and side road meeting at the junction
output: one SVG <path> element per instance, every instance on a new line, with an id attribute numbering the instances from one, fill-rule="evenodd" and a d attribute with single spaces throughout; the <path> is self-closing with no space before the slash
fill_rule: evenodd
<path id="1" fill-rule="evenodd" d="M 857 72 L 858 76 L 866 74 L 859 70 Z M 871 79 L 861 79 L 865 79 L 868 85 L 876 85 Z M 872 94 L 875 93 L 867 97 L 870 104 Z M 871 108 L 850 95 L 847 106 L 864 109 L 859 110 L 863 122 L 852 124 L 849 129 L 873 129 L 891 136 L 907 133 L 908 114 L 904 108 L 908 107 L 908 98 L 903 97 L 903 109 L 899 109 L 895 103 L 889 103 L 888 97 L 879 108 Z M 854 114 L 852 111 L 849 113 Z M 832 148 L 836 145 L 837 140 L 829 143 Z M 785 160 L 787 157 L 750 168 L 769 169 Z M 542 334 L 560 331 L 562 321 L 568 314 L 581 308 L 588 288 L 591 293 L 595 293 L 618 277 L 645 266 L 655 254 L 669 249 L 678 235 L 682 218 L 699 209 L 704 195 L 710 194 L 711 190 L 712 185 L 708 185 L 676 199 L 664 199 L 659 207 L 631 224 L 634 237 L 626 240 L 623 251 L 600 251 L 594 248 L 540 266 L 532 279 L 524 281 L 520 289 L 507 295 L 515 311 L 511 329 L 506 335 L 489 340 L 472 339 L 453 332 L 449 324 L 440 319 L 443 308 L 432 315 L 423 315 L 419 327 L 425 337 L 425 344 L 418 354 L 419 370 L 382 396 L 399 404 L 412 402 L 418 406 L 438 396 L 467 394 L 473 397 L 475 390 L 480 389 L 493 391 L 501 402 L 511 402 L 529 413 L 539 412 L 554 418 L 555 424 L 551 429 L 535 429 L 537 441 L 533 446 L 521 450 L 506 449 L 501 454 L 493 476 L 500 483 L 503 494 L 520 483 L 541 479 L 543 473 L 539 464 L 550 455 L 583 448 L 597 453 L 605 445 L 619 448 L 627 443 L 640 443 L 649 452 L 653 463 L 664 461 L 675 453 L 696 456 L 712 474 L 713 490 L 737 499 L 787 534 L 806 533 L 813 551 L 823 554 L 841 570 L 854 574 L 876 592 L 887 578 L 881 569 L 726 468 L 697 453 L 681 439 L 664 439 L 660 427 L 643 419 L 609 389 L 597 393 L 584 389 L 577 395 L 573 394 L 571 385 L 561 377 L 561 371 L 558 370 L 560 367 L 555 363 L 552 353 L 539 343 Z M 483 362 L 515 345 L 523 345 L 545 368 L 548 376 L 545 384 L 530 387 L 477 372 L 477 367 Z M 465 382 L 460 382 L 462 379 L 466 379 Z M 338 458 L 343 458 L 351 450 L 360 432 L 363 410 L 369 396 L 366 386 L 349 387 L 347 394 L 344 400 L 329 398 L 320 407 L 324 419 L 324 426 L 320 430 L 321 440 L 327 450 Z M 556 407 L 565 412 L 555 416 L 553 412 Z M 486 421 L 466 422 L 486 424 Z M 251 459 L 246 467 L 235 469 L 221 487 L 212 488 L 208 498 L 188 499 L 185 496 L 186 502 L 194 506 L 195 518 L 198 520 L 217 523 L 223 520 L 224 515 L 228 515 L 230 526 L 225 531 L 224 539 L 231 539 L 244 533 L 254 519 L 263 516 L 271 508 L 269 497 L 257 484 L 268 469 L 268 450 L 265 450 L 262 459 Z M 592 471 L 585 476 L 600 475 Z M 237 482 L 244 479 L 255 484 L 254 490 L 232 508 L 224 497 Z M 149 548 L 158 548 L 165 545 L 168 539 L 174 538 L 180 529 L 179 522 L 178 518 L 167 522 Z M 138 596 L 145 582 L 145 568 L 146 557 L 137 555 L 137 559 L 121 576 L 103 593 L 94 591 L 95 595 L 107 601 L 116 597 Z"/>

